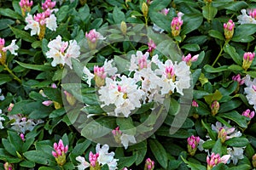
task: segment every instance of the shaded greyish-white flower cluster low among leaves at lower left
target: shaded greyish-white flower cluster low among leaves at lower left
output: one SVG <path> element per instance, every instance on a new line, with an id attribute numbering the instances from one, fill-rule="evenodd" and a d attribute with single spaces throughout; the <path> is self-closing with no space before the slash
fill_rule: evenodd
<path id="1" fill-rule="evenodd" d="M 15 122 L 11 123 L 11 128 L 18 133 L 26 133 L 27 131 L 31 132 L 34 127 L 44 122 L 42 120 L 27 119 L 20 114 L 9 115 L 8 117 L 9 120 L 15 120 Z"/>

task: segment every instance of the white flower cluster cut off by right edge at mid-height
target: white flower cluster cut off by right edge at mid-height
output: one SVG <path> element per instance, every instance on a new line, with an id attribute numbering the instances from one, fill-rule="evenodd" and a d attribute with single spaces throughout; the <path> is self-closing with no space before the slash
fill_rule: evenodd
<path id="1" fill-rule="evenodd" d="M 244 93 L 246 94 L 248 103 L 253 105 L 253 109 L 256 111 L 256 78 L 252 81 L 251 77 L 247 75 L 244 80 L 247 86 L 247 88 L 244 88 Z"/>

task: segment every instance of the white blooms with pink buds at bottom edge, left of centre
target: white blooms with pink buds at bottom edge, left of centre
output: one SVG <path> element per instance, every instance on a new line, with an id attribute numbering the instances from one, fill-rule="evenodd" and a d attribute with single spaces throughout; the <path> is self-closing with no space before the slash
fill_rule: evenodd
<path id="1" fill-rule="evenodd" d="M 90 163 L 88 161 L 85 161 L 84 157 L 82 156 L 77 156 L 76 160 L 80 162 L 78 169 L 79 170 L 84 170 L 87 167 L 90 166 L 95 166 L 96 162 L 100 165 L 103 166 L 105 164 L 108 165 L 109 170 L 115 170 L 117 169 L 117 161 L 118 159 L 114 159 L 114 152 L 108 153 L 109 146 L 108 144 L 103 144 L 101 148 L 101 144 L 96 145 L 96 160 L 93 159 L 93 157 L 89 158 Z M 91 154 L 91 153 L 90 153 Z"/>

